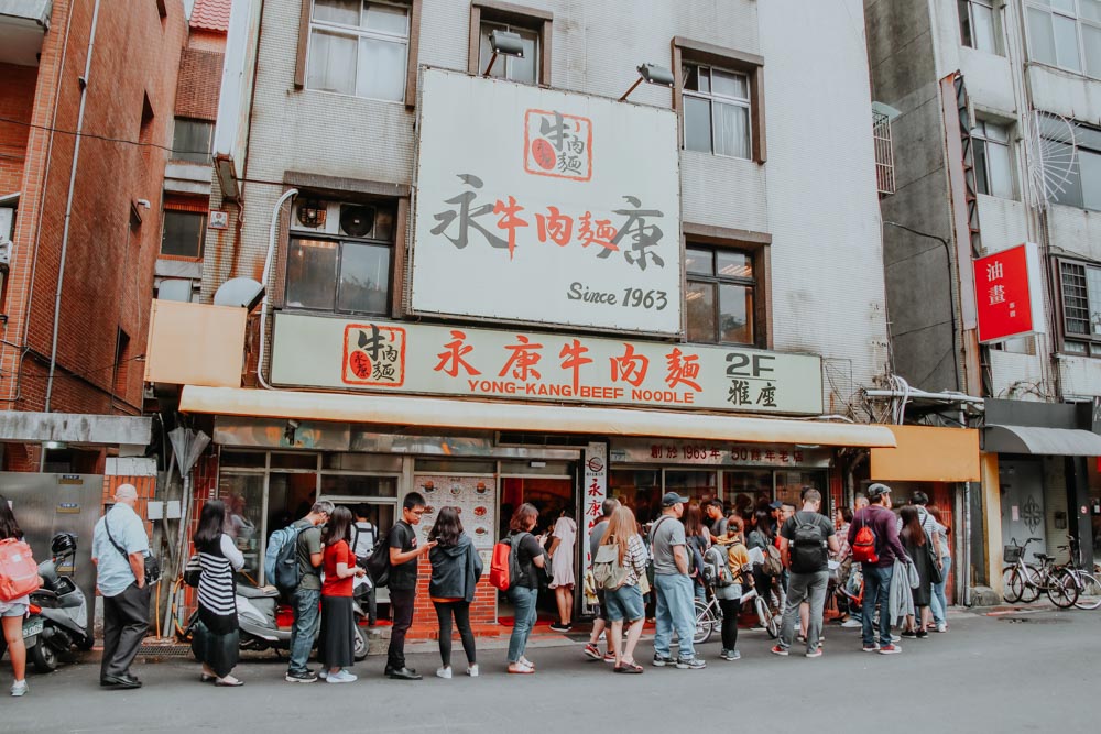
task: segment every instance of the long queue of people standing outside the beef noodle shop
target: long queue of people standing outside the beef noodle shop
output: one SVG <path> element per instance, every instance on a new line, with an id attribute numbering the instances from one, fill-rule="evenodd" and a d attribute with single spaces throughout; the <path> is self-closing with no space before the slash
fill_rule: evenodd
<path id="1" fill-rule="evenodd" d="M 133 510 L 137 497 L 133 486 L 118 487 L 116 504 L 97 523 L 92 540 L 92 561 L 105 610 L 100 683 L 119 689 L 142 684 L 131 665 L 149 617 L 144 571 L 149 539 Z M 947 631 L 944 589 L 951 562 L 949 530 L 939 522 L 939 511 L 928 507 L 926 495 L 916 493 L 896 514 L 892 512 L 891 489 L 872 484 L 866 495 L 858 497 L 854 513 L 842 507 L 832 522 L 820 512 L 822 496 L 818 490 L 804 487 L 802 501 L 800 510 L 763 503 L 753 512 L 752 529 L 748 532 L 744 511 L 723 513 L 719 501 L 699 507 L 688 497 L 669 492 L 662 497 L 661 516 L 643 533 L 631 508 L 617 500 L 606 500 L 589 537 L 598 604 L 584 654 L 613 664 L 617 673 L 643 672 L 635 651 L 646 621 L 644 596 L 652 593 L 656 626 L 652 665 L 702 669 L 706 662 L 693 644 L 694 604 L 700 594 L 707 599 L 713 593 L 722 612 L 720 659 L 739 660 L 738 622 L 743 605 L 759 593 L 771 593 L 766 590 L 775 584 L 785 595 L 786 606 L 780 639 L 771 651 L 788 656 L 798 629 L 806 657 L 820 657 L 824 603 L 831 574 L 842 587 L 854 578 L 862 580 L 862 604 L 850 611 L 853 617 L 860 617 L 864 651 L 896 654 L 901 637 L 924 638 L 930 631 Z M 428 595 L 439 624 L 440 666 L 436 676 L 453 677 L 454 623 L 466 657 L 466 675 L 477 677 L 470 604 L 483 572 L 482 561 L 454 507 L 440 508 L 427 541 L 419 543 L 415 526 L 425 510 L 421 494 L 406 495 L 402 517 L 386 536 L 393 629 L 384 675 L 399 680 L 422 678 L 407 665 L 404 647 L 416 604 L 417 561 L 427 554 L 432 568 Z M 509 523 L 519 574 L 508 590 L 515 623 L 506 669 L 516 675 L 536 671 L 526 648 L 536 621 L 541 574 L 549 577 L 556 596 L 559 618 L 552 629 L 570 627 L 576 522 L 564 513 L 555 523 L 553 540 L 544 547 L 533 535 L 537 521 L 537 508 L 525 503 L 515 508 Z M 292 525 L 296 530 L 294 557 L 299 577 L 292 594 L 294 623 L 285 673 L 288 682 L 357 680 L 351 672 L 356 634 L 352 583 L 355 577 L 366 573 L 357 558 L 362 548 L 356 537 L 357 526 L 362 532 L 364 524 L 370 525 L 362 517 L 357 519 L 348 507 L 320 501 Z M 193 649 L 201 666 L 201 681 L 239 687 L 243 681 L 233 675 L 240 644 L 233 574 L 244 559 L 226 533 L 227 527 L 226 505 L 206 502 L 193 537 L 201 566 Z M 373 540 L 373 526 L 370 530 Z M 11 508 L 0 497 L 0 540 L 21 537 Z M 781 572 L 765 568 L 774 557 L 773 550 L 782 565 Z M 569 558 L 568 573 L 560 560 L 564 558 Z M 705 569 L 709 563 L 710 572 Z M 0 602 L 15 679 L 12 695 L 28 691 L 20 632 L 25 613 L 25 600 Z M 898 626 L 901 636 L 893 635 L 892 628 Z M 676 655 L 674 633 L 678 640 Z M 316 673 L 307 667 L 315 643 L 320 664 Z"/>

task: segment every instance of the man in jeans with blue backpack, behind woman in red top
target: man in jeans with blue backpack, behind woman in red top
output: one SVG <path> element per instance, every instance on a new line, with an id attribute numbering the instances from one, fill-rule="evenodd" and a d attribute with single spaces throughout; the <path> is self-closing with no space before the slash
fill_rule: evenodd
<path id="1" fill-rule="evenodd" d="M 321 628 L 321 576 L 318 569 L 325 556 L 321 549 L 321 525 L 329 521 L 333 503 L 315 502 L 309 514 L 291 524 L 295 557 L 298 561 L 298 583 L 292 595 L 294 622 L 291 624 L 291 662 L 286 669 L 288 683 L 312 683 L 317 675 L 306 667 L 309 650 Z M 282 587 L 282 584 L 279 584 Z"/>

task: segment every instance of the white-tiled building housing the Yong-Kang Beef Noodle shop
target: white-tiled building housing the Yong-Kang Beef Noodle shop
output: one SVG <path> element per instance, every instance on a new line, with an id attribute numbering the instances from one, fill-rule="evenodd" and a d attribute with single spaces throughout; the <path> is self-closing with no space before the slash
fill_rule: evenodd
<path id="1" fill-rule="evenodd" d="M 863 394 L 890 366 L 862 18 L 236 2 L 219 227 L 194 297 L 154 304 L 146 380 L 214 437 L 196 497 L 241 508 L 251 571 L 320 497 L 386 528 L 418 491 L 422 529 L 457 505 L 486 552 L 521 502 L 565 511 L 580 574 L 604 496 L 647 522 L 665 491 L 866 480 L 896 439 Z"/>

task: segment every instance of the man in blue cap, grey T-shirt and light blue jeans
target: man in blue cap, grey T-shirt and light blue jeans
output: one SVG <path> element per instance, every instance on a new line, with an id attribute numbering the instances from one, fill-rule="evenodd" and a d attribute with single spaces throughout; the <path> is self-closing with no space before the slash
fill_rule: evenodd
<path id="1" fill-rule="evenodd" d="M 685 526 L 680 523 L 685 503 L 676 492 L 662 497 L 662 516 L 650 528 L 650 547 L 654 557 L 654 591 L 657 595 L 657 629 L 654 634 L 654 666 L 674 665 L 669 655 L 673 631 L 677 631 L 680 651 L 676 659 L 682 670 L 707 667 L 696 657 L 693 635 L 696 614 L 693 604 L 693 582 L 688 577 L 688 551 Z"/>

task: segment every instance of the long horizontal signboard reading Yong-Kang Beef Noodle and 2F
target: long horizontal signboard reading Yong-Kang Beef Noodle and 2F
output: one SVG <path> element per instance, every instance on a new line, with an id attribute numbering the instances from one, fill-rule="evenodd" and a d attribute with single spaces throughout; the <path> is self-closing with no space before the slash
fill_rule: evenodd
<path id="1" fill-rule="evenodd" d="M 818 415 L 821 359 L 739 347 L 279 314 L 272 382 Z"/>

